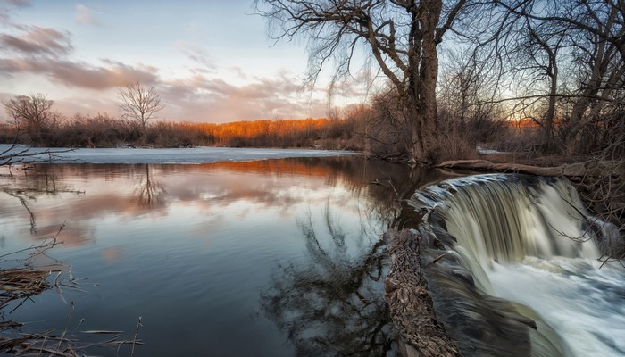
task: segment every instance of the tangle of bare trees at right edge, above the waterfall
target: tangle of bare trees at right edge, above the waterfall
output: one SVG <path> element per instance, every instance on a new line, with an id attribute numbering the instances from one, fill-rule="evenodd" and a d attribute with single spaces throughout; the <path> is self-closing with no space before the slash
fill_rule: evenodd
<path id="1" fill-rule="evenodd" d="M 502 76 L 512 86 L 529 88 L 504 100 L 529 108 L 528 116 L 544 129 L 545 149 L 556 145 L 557 130 L 566 154 L 602 150 L 608 128 L 620 128 L 624 118 L 625 4 L 503 0 L 489 9 L 498 26 L 479 35 L 472 24 L 464 29 L 472 30 L 478 46 L 493 48 L 493 61 L 502 62 Z"/>

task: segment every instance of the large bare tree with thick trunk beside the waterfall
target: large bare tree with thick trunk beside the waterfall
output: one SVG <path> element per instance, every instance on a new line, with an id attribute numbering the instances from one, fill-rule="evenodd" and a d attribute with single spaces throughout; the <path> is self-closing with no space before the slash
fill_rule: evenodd
<path id="1" fill-rule="evenodd" d="M 354 52 L 372 54 L 411 123 L 412 158 L 437 160 L 437 45 L 466 0 L 257 0 L 276 40 L 306 37 L 309 81 L 335 62 L 334 79 L 350 74 Z"/>

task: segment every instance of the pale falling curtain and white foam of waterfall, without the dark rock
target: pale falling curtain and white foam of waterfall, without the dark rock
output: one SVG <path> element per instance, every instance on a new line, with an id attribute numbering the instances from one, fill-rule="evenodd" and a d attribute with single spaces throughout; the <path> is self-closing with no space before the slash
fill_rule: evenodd
<path id="1" fill-rule="evenodd" d="M 625 355 L 625 269 L 599 268 L 585 210 L 566 181 L 482 175 L 426 195 L 421 202 L 437 202 L 476 285 L 531 310 L 544 338 L 533 343 L 555 333 L 564 355 Z"/>

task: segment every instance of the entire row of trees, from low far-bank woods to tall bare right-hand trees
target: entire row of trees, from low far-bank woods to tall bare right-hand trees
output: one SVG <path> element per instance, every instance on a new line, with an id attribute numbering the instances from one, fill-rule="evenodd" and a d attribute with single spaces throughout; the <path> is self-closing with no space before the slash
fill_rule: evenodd
<path id="1" fill-rule="evenodd" d="M 436 163 L 470 157 L 490 142 L 541 154 L 625 156 L 622 1 L 259 0 L 256 9 L 275 39 L 309 41 L 307 83 L 317 83 L 325 67 L 335 81 L 353 77 L 354 54 L 364 50 L 369 63 L 360 67 L 379 71 L 386 85 L 343 112 L 343 121 L 301 129 L 281 122 L 289 130 L 271 121 L 253 130 L 154 123 L 160 97 L 139 83 L 121 88 L 115 125 L 108 114 L 61 118 L 45 95 L 5 101 L 6 112 L 19 139 L 34 145 L 348 147 Z M 29 116 L 21 115 L 24 104 Z M 513 120 L 536 128 L 512 136 Z"/>

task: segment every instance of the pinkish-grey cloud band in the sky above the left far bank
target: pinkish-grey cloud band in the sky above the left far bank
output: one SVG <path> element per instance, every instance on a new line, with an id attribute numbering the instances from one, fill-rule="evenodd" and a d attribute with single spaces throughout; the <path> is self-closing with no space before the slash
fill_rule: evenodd
<path id="1" fill-rule="evenodd" d="M 87 6 L 78 4 L 75 11 L 76 21 L 96 23 Z M 55 105 L 65 115 L 114 111 L 116 98 L 110 89 L 134 80 L 156 87 L 166 105 L 159 117 L 165 120 L 297 119 L 325 116 L 328 110 L 325 95 L 303 94 L 300 81 L 293 75 L 267 73 L 254 77 L 234 67 L 222 68 L 203 46 L 187 41 L 176 42 L 176 47 L 194 64 L 186 74 L 178 72 L 177 77 L 166 78 L 163 73 L 170 71 L 142 63 L 78 60 L 74 54 L 79 49 L 74 48 L 68 31 L 13 23 L 5 29 L 0 32 L 0 80 L 8 78 L 16 91 L 28 92 L 30 83 L 46 87 L 52 96 L 58 95 Z M 84 89 L 102 95 L 89 96 L 87 93 L 92 92 L 85 93 Z M 338 91 L 351 92 L 351 88 Z"/>

